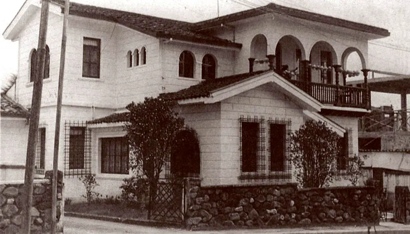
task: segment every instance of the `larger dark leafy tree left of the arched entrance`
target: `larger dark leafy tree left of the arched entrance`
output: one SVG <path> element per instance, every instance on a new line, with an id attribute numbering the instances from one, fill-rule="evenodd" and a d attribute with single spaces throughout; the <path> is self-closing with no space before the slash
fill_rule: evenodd
<path id="1" fill-rule="evenodd" d="M 156 194 L 159 176 L 170 157 L 176 134 L 184 125 L 183 118 L 173 111 L 175 101 L 145 98 L 144 102 L 127 105 L 129 122 L 125 124 L 130 144 L 130 168 L 142 172 L 149 181 L 150 199 Z"/>

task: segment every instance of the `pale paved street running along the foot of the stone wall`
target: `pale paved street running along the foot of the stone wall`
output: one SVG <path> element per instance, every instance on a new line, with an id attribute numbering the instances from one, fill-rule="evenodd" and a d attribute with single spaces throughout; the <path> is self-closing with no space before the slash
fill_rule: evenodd
<path id="1" fill-rule="evenodd" d="M 123 223 L 114 223 L 108 221 L 64 217 L 65 234 L 142 234 L 142 233 L 190 233 L 190 234 L 245 234 L 245 233 L 270 233 L 270 234 L 314 234 L 314 233 L 332 233 L 332 234 L 365 234 L 367 233 L 366 227 L 351 227 L 351 226 L 336 226 L 336 227 L 306 227 L 306 228 L 275 228 L 275 229 L 237 229 L 237 230 L 216 230 L 216 231 L 188 231 L 178 228 L 161 228 L 161 227 L 147 227 L 140 225 L 131 225 Z M 410 233 L 410 225 L 402 225 L 396 223 L 380 223 L 380 226 L 376 227 L 378 234 L 405 234 Z M 372 228 L 372 233 L 374 229 Z"/>

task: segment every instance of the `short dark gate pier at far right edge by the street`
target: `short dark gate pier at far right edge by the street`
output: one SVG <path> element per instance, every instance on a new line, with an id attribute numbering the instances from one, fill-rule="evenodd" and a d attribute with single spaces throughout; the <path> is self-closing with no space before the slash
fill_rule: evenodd
<path id="1" fill-rule="evenodd" d="M 406 223 L 406 217 L 409 215 L 407 210 L 410 211 L 410 191 L 407 186 L 396 186 L 395 188 L 395 221 L 399 223 Z"/>

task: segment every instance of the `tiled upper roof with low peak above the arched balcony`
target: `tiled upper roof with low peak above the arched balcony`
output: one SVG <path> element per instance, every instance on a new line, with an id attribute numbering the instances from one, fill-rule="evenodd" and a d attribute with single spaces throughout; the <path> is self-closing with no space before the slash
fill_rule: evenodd
<path id="1" fill-rule="evenodd" d="M 270 3 L 266 6 L 250 9 L 247 11 L 240 11 L 237 13 L 224 15 L 218 18 L 213 18 L 209 20 L 204 20 L 193 24 L 192 30 L 201 30 L 219 26 L 221 24 L 227 24 L 240 19 L 255 17 L 267 13 L 278 13 L 282 15 L 288 15 L 300 19 L 310 20 L 313 22 L 323 23 L 327 25 L 338 26 L 347 29 L 353 29 L 361 32 L 371 33 L 379 36 L 389 36 L 388 30 L 383 28 L 378 28 L 370 25 L 365 25 L 361 23 L 356 23 L 350 20 L 340 19 L 332 16 L 317 14 L 309 11 L 303 11 L 295 8 L 284 7 L 274 3 Z"/>

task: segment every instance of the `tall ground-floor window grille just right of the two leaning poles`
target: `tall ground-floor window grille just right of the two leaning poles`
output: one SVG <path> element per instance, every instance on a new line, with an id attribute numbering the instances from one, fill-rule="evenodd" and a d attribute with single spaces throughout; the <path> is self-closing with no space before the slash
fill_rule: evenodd
<path id="1" fill-rule="evenodd" d="M 91 134 L 83 121 L 66 121 L 64 137 L 64 176 L 91 173 Z"/>

